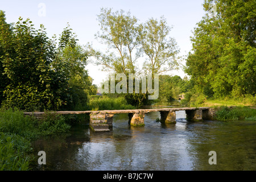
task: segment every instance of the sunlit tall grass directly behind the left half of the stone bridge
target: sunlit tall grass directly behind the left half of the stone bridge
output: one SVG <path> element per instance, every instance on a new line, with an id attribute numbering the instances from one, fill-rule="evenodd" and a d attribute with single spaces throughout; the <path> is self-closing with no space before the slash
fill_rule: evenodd
<path id="1" fill-rule="evenodd" d="M 110 98 L 110 97 L 95 97 L 90 98 L 90 110 L 115 110 L 115 109 L 135 109 L 135 106 L 127 104 L 123 97 Z"/>

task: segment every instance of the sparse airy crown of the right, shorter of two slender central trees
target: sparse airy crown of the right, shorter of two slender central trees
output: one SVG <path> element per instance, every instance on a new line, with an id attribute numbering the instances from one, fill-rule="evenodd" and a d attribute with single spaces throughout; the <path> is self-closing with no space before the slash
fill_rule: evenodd
<path id="1" fill-rule="evenodd" d="M 166 19 L 162 16 L 160 20 L 149 19 L 141 26 L 140 42 L 142 51 L 147 56 L 144 62 L 144 71 L 152 76 L 155 73 L 172 71 L 177 66 L 177 53 L 174 38 L 168 38 L 171 27 L 167 25 Z"/>

